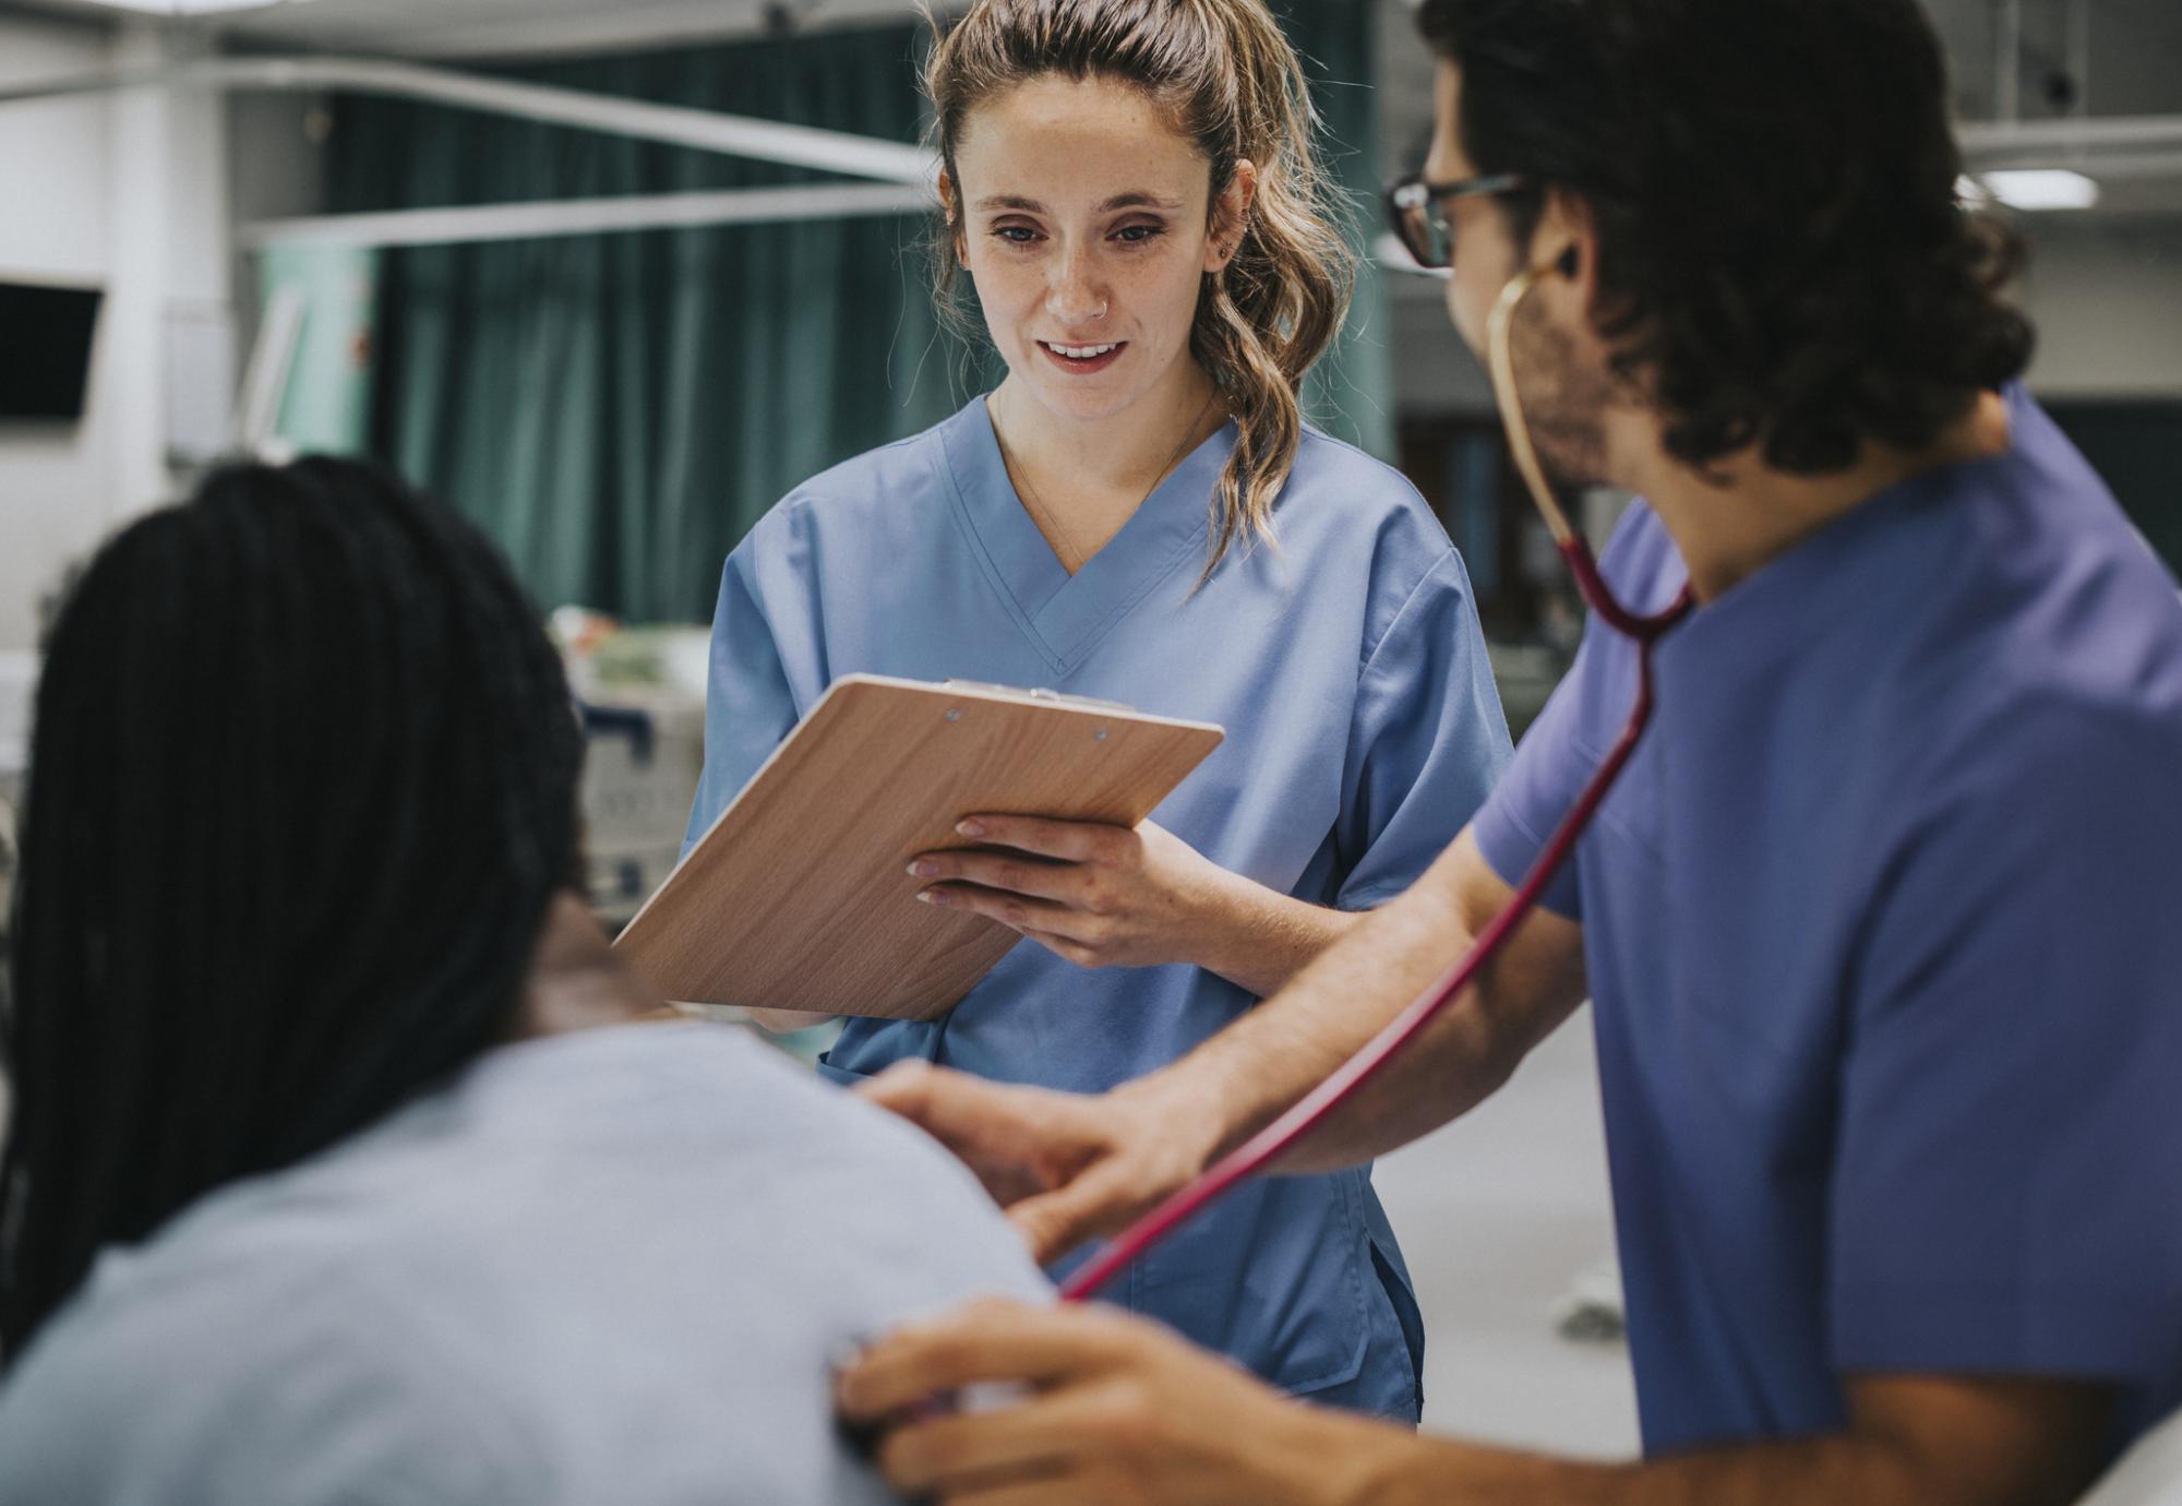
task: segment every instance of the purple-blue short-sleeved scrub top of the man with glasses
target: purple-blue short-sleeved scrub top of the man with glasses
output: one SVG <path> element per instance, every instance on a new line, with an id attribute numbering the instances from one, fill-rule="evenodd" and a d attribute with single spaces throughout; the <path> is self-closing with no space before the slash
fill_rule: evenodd
<path id="1" fill-rule="evenodd" d="M 1652 1451 L 1839 1427 L 1859 1371 L 2182 1401 L 2182 600 L 2021 391 L 1695 611 L 1551 891 L 1584 925 Z M 1643 506 L 1604 570 L 1665 607 Z M 1593 624 L 1477 818 L 1514 882 L 1612 744 Z M 2117 1438 L 2119 1441 L 2119 1438 Z"/>

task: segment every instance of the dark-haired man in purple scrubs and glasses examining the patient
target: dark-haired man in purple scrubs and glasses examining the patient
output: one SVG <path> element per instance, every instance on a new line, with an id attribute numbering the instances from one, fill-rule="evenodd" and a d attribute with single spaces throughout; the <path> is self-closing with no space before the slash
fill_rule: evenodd
<path id="1" fill-rule="evenodd" d="M 1137 1320 L 1004 1303 L 877 1342 L 851 1417 L 945 1502 L 2064 1502 L 2182 1403 L 2182 600 L 2021 389 L 1914 0 L 1425 0 L 1449 308 L 1516 314 L 1562 482 L 1639 491 L 1615 594 L 1695 609 L 1514 936 L 1283 1170 L 1471 1109 L 1588 993 L 1645 1460 L 1285 1403 Z M 1429 247 L 1427 247 L 1429 249 Z M 1111 1233 L 1468 947 L 1619 736 L 1593 626 L 1455 845 L 1292 987 L 1102 1098 L 875 1096 L 1041 1242 Z"/>

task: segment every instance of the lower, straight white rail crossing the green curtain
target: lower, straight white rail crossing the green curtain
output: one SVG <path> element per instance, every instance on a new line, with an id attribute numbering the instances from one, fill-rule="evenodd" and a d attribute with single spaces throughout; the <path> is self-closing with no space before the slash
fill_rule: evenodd
<path id="1" fill-rule="evenodd" d="M 932 192 L 925 188 L 820 183 L 812 188 L 738 188 L 703 194 L 633 194 L 626 199 L 552 199 L 543 203 L 495 203 L 467 210 L 327 214 L 247 225 L 238 240 L 251 251 L 297 244 L 449 247 L 635 229 L 914 214 L 932 205 Z"/>

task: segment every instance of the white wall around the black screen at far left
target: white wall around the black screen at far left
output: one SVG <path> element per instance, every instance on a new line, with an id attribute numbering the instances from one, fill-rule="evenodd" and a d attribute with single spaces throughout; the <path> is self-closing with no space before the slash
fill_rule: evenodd
<path id="1" fill-rule="evenodd" d="M 148 65 L 188 46 L 155 22 L 0 11 L 9 83 Z M 39 600 L 70 561 L 175 491 L 166 327 L 229 306 L 225 179 L 225 111 L 209 96 L 0 105 L 0 277 L 107 290 L 83 423 L 0 428 L 0 650 L 35 642 Z"/>

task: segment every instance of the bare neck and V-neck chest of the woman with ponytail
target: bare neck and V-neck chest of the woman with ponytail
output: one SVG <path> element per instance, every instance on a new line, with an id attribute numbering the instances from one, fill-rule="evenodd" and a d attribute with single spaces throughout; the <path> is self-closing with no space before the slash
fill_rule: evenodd
<path id="1" fill-rule="evenodd" d="M 1008 378 L 986 399 L 999 450 L 1030 519 L 1076 574 L 1117 535 L 1183 456 L 1226 423 L 1194 360 L 1106 419 L 1069 419 Z"/>

